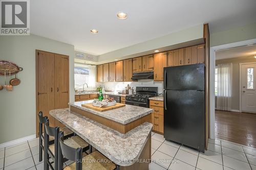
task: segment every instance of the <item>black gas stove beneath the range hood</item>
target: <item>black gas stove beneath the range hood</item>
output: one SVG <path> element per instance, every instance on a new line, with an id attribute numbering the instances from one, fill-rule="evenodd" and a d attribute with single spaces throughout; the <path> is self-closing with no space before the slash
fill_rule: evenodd
<path id="1" fill-rule="evenodd" d="M 156 96 L 158 87 L 136 87 L 136 94 L 127 95 L 125 104 L 148 107 L 148 98 Z"/>

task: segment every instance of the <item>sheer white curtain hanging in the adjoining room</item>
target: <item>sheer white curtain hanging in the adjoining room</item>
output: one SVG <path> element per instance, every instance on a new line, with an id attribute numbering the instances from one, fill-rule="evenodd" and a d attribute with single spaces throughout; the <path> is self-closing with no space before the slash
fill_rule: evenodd
<path id="1" fill-rule="evenodd" d="M 218 64 L 217 109 L 231 110 L 232 63 Z"/>

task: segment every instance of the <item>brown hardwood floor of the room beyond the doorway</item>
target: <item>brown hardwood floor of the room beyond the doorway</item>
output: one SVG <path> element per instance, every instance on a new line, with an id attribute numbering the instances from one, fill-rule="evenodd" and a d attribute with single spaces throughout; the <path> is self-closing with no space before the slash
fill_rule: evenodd
<path id="1" fill-rule="evenodd" d="M 215 137 L 256 148 L 256 114 L 216 110 Z"/>

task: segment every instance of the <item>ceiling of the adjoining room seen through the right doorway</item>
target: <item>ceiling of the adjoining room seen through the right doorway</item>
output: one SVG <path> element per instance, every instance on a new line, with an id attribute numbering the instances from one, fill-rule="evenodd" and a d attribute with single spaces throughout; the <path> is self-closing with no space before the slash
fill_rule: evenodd
<path id="1" fill-rule="evenodd" d="M 228 50 L 222 50 L 216 52 L 216 60 L 237 58 L 237 57 L 253 57 L 256 56 L 256 44 L 230 48 Z"/>

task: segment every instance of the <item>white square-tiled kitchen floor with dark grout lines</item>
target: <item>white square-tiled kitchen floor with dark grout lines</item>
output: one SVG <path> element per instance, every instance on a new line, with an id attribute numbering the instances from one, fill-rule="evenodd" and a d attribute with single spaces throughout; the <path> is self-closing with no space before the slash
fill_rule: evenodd
<path id="1" fill-rule="evenodd" d="M 38 161 L 38 138 L 0 149 L 0 170 L 44 169 Z M 161 169 L 251 169 L 256 170 L 256 149 L 227 141 L 209 139 L 208 151 L 197 151 L 169 142 L 152 133 L 150 170 Z M 70 164 L 72 162 L 66 162 Z"/>

